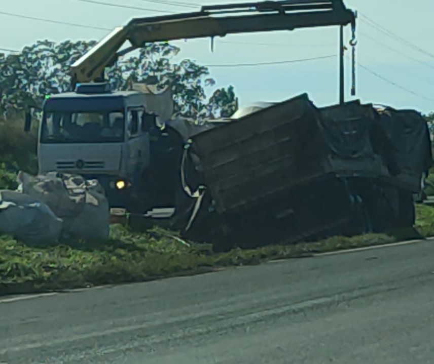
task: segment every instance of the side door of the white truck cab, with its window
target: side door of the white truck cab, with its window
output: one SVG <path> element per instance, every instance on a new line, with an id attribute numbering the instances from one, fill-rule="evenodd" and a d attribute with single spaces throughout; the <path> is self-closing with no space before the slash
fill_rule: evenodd
<path id="1" fill-rule="evenodd" d="M 139 188 L 141 172 L 149 165 L 149 134 L 140 122 L 143 112 L 143 108 L 127 110 L 127 175 L 133 188 Z"/>

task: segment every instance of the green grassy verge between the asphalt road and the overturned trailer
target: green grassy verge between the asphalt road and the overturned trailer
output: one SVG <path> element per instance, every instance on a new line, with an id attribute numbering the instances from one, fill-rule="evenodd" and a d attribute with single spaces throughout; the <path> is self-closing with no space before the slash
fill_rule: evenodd
<path id="1" fill-rule="evenodd" d="M 209 245 L 180 239 L 154 229 L 133 234 L 113 225 L 107 242 L 75 242 L 57 247 L 27 247 L 0 236 L 0 295 L 92 287 L 146 281 L 161 277 L 212 271 L 219 267 L 252 265 L 273 259 L 309 256 L 336 250 L 387 244 L 434 235 L 434 208 L 417 206 L 415 231 L 394 234 L 336 236 L 291 246 L 255 250 L 234 249 L 215 254 Z"/>

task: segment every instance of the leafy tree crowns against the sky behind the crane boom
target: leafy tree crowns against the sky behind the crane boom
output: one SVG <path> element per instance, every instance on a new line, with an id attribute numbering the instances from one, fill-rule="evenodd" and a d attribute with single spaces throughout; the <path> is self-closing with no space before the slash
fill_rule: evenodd
<path id="1" fill-rule="evenodd" d="M 25 47 L 18 55 L 0 60 L 0 108 L 3 112 L 41 105 L 45 95 L 70 89 L 69 66 L 96 44 L 95 41 L 59 44 L 45 40 Z M 168 43 L 155 43 L 137 55 L 124 57 L 108 68 L 113 89 L 126 90 L 132 82 L 156 76 L 159 85 L 170 85 L 176 115 L 201 118 L 230 116 L 238 107 L 234 88 L 220 88 L 207 100 L 206 89 L 215 86 L 209 70 L 191 59 L 174 62 L 180 52 Z"/>

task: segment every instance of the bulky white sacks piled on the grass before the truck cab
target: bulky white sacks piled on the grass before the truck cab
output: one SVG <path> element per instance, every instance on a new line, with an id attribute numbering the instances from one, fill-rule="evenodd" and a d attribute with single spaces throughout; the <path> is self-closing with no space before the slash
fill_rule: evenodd
<path id="1" fill-rule="evenodd" d="M 20 172 L 17 179 L 17 191 L 0 191 L 0 232 L 47 245 L 60 238 L 108 238 L 110 211 L 97 181 L 56 172 Z"/>

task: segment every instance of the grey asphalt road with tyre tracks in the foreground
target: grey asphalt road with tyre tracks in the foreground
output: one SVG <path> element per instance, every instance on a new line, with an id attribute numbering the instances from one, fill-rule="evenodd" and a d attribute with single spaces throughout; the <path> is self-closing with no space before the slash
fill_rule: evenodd
<path id="1" fill-rule="evenodd" d="M 434 241 L 0 298 L 0 362 L 434 363 Z"/>

